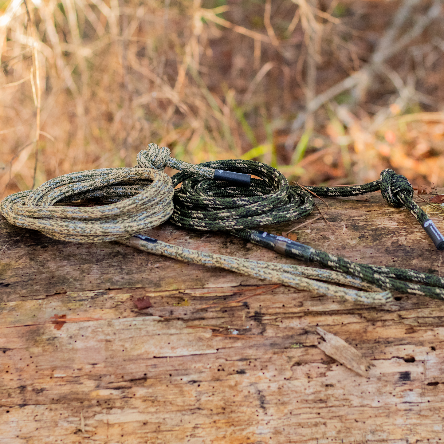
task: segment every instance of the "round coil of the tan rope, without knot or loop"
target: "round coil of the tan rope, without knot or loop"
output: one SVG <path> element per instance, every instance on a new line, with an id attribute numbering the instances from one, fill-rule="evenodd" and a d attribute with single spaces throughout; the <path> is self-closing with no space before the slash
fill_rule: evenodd
<path id="1" fill-rule="evenodd" d="M 36 190 L 4 198 L 0 211 L 8 222 L 70 242 L 129 238 L 165 222 L 173 212 L 170 177 L 159 170 L 104 168 L 65 174 Z M 78 207 L 56 203 L 95 198 L 110 205 Z"/>

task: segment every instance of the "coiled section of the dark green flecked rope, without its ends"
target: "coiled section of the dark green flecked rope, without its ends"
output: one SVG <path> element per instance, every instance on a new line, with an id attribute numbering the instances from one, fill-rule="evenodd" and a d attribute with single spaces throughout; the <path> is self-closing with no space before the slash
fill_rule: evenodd
<path id="1" fill-rule="evenodd" d="M 250 186 L 202 180 L 188 172 L 174 174 L 175 210 L 171 221 L 197 230 L 235 232 L 258 225 L 289 222 L 311 213 L 313 198 L 301 187 L 289 186 L 275 168 L 251 160 L 220 160 L 202 163 L 214 170 L 252 174 Z"/>

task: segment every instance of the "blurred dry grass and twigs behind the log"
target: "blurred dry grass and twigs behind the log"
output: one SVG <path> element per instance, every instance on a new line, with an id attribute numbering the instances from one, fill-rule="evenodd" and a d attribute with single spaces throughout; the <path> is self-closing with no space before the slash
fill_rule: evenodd
<path id="1" fill-rule="evenodd" d="M 0 0 L 0 193 L 147 143 L 444 185 L 442 2 Z"/>

